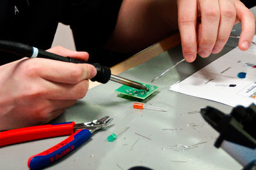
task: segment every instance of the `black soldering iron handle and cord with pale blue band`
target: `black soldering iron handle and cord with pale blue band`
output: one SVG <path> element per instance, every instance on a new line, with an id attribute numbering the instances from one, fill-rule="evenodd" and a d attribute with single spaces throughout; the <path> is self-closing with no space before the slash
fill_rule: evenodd
<path id="1" fill-rule="evenodd" d="M 60 60 L 63 62 L 73 62 L 77 64 L 78 63 L 92 64 L 97 69 L 97 74 L 91 80 L 98 81 L 100 83 L 107 83 L 111 76 L 110 68 L 106 66 L 102 66 L 99 63 L 90 63 L 84 60 L 74 59 L 72 57 L 63 57 L 61 55 L 57 55 L 51 52 L 46 52 L 36 47 L 25 45 L 23 43 L 0 40 L 0 50 L 10 52 L 10 53 L 15 53 L 16 55 L 20 55 L 22 57 L 31 57 L 31 58 L 40 57 L 44 59 Z"/>

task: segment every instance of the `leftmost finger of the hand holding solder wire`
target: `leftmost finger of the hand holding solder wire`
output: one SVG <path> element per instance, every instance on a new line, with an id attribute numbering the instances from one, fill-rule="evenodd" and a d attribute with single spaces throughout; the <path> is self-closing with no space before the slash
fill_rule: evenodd
<path id="1" fill-rule="evenodd" d="M 196 0 L 178 0 L 178 24 L 184 59 L 193 62 L 196 59 Z"/>

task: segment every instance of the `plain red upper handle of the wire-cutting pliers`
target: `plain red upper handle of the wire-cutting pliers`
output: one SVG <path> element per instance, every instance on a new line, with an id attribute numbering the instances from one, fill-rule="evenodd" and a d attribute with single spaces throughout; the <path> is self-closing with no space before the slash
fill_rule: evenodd
<path id="1" fill-rule="evenodd" d="M 66 122 L 61 124 L 24 127 L 0 132 L 0 146 L 73 134 L 74 125 L 75 122 Z"/>

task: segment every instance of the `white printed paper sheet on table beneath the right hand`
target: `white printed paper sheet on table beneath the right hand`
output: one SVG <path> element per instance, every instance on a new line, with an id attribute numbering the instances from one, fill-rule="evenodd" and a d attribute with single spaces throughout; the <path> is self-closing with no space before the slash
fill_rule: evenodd
<path id="1" fill-rule="evenodd" d="M 246 77 L 239 78 L 238 73 Z M 256 45 L 246 52 L 234 48 L 170 90 L 230 106 L 256 104 Z"/>

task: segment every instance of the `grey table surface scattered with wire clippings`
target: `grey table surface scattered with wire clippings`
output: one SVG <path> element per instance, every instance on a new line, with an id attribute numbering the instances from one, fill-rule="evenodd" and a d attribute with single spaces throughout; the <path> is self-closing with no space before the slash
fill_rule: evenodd
<path id="1" fill-rule="evenodd" d="M 256 8 L 252 8 L 252 11 L 256 13 Z M 240 29 L 239 25 L 234 28 Z M 111 126 L 93 134 L 92 138 L 77 150 L 47 169 L 129 169 L 134 166 L 152 169 L 242 169 L 228 153 L 214 147 L 218 132 L 214 131 L 199 113 L 188 114 L 205 106 L 218 108 L 225 113 L 229 113 L 232 108 L 168 90 L 173 83 L 184 80 L 232 48 L 234 47 L 225 46 L 223 52 L 207 59 L 198 57 L 193 64 L 183 62 L 154 83 L 150 83 L 154 77 L 182 59 L 180 46 L 120 74 L 131 80 L 157 85 L 157 92 L 141 102 L 168 107 L 168 112 L 132 108 L 134 101 L 116 94 L 115 90 L 120 84 L 115 82 L 109 81 L 105 85 L 90 89 L 84 99 L 68 108 L 53 122 L 89 122 L 108 115 L 114 118 Z M 106 140 L 110 134 L 124 127 L 129 129 L 122 136 L 113 142 Z M 29 157 L 65 138 L 67 136 L 2 147 L 0 169 L 28 169 Z M 173 150 L 171 147 L 190 146 L 200 142 L 204 143 L 189 150 Z"/>

